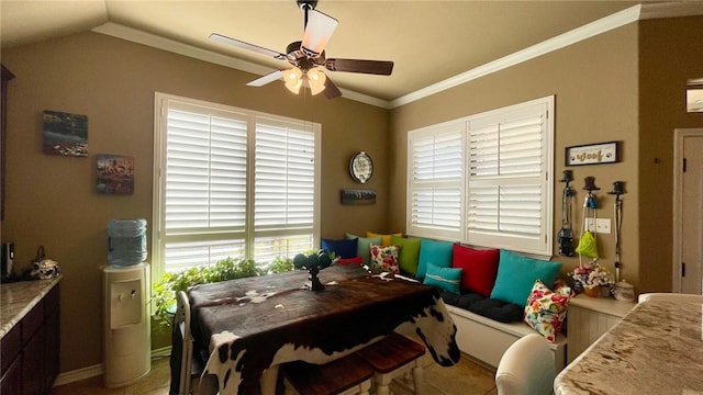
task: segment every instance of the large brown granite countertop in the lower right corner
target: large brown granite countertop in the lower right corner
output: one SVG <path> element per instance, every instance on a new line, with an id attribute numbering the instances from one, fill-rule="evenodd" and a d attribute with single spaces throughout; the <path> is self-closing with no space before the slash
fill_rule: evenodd
<path id="1" fill-rule="evenodd" d="M 703 395 L 703 304 L 648 301 L 569 364 L 556 395 Z"/>

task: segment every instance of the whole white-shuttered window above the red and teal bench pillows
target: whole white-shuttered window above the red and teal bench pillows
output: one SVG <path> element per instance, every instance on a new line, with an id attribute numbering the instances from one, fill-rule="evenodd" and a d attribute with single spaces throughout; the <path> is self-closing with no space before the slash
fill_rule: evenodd
<path id="1" fill-rule="evenodd" d="M 551 255 L 554 97 L 409 133 L 408 233 Z"/>

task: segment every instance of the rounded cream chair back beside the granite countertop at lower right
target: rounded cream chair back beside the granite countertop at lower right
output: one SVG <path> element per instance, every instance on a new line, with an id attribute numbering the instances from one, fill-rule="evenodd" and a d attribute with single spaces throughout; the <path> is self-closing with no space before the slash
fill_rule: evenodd
<path id="1" fill-rule="evenodd" d="M 498 364 L 499 395 L 547 395 L 554 390 L 557 372 L 547 340 L 529 334 L 512 343 Z"/>

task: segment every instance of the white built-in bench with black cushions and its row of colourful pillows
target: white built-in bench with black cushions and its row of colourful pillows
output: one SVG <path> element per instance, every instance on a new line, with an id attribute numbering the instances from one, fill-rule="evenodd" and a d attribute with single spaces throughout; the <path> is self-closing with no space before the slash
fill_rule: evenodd
<path id="1" fill-rule="evenodd" d="M 346 234 L 344 240 L 322 239 L 321 245 L 344 263 L 400 272 L 439 289 L 458 329 L 459 349 L 468 357 L 496 368 L 513 342 L 537 331 L 554 351 L 557 371 L 563 369 L 567 339 L 556 332 L 570 290 L 556 290 L 560 262 L 402 233 Z M 553 293 L 558 294 L 546 296 Z"/>

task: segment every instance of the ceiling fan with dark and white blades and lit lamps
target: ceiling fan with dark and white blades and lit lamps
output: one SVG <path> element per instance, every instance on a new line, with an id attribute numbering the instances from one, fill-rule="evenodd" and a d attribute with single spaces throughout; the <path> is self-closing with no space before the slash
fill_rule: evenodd
<path id="1" fill-rule="evenodd" d="M 392 61 L 325 58 L 325 45 L 337 27 L 337 20 L 316 11 L 317 0 L 297 0 L 295 2 L 305 14 L 303 40 L 290 43 L 286 48 L 286 54 L 217 33 L 210 35 L 211 40 L 272 56 L 279 60 L 288 60 L 293 66 L 290 69 L 277 70 L 255 79 L 247 83 L 248 87 L 263 87 L 282 77 L 286 81 L 286 88 L 293 93 L 300 92 L 302 86 L 308 86 L 312 94 L 324 92 L 325 97 L 334 99 L 341 97 L 342 92 L 321 70 L 323 67 L 330 71 L 391 75 L 393 71 Z"/>

